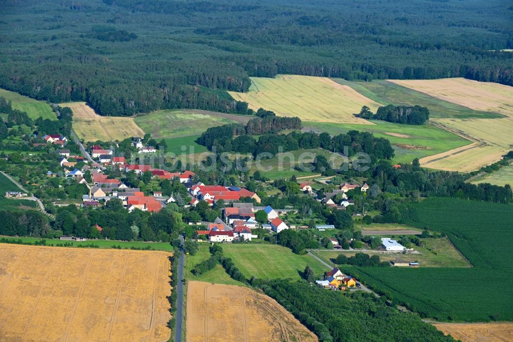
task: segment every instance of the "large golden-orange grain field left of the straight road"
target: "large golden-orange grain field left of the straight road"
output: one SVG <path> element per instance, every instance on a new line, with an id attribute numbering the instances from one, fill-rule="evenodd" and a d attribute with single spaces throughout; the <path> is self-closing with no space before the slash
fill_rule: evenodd
<path id="1" fill-rule="evenodd" d="M 0 244 L 0 340 L 167 341 L 168 256 Z"/>

